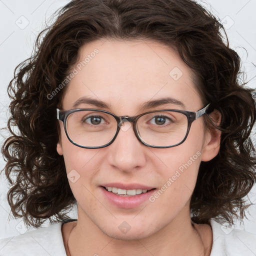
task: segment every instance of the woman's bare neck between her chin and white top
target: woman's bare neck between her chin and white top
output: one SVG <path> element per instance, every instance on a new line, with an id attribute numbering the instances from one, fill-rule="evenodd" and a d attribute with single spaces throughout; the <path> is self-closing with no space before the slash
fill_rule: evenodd
<path id="1" fill-rule="evenodd" d="M 139 239 L 134 236 L 129 240 L 106 235 L 90 219 L 84 217 L 80 219 L 78 217 L 77 221 L 71 222 L 72 226 L 65 242 L 67 256 L 96 256 L 102 252 L 104 256 L 130 256 L 134 251 L 141 256 L 208 256 L 210 254 L 212 237 L 208 237 L 209 233 L 206 230 L 209 226 L 204 225 L 201 228 L 200 225 L 193 224 L 190 216 L 182 222 L 174 219 L 150 236 Z"/>

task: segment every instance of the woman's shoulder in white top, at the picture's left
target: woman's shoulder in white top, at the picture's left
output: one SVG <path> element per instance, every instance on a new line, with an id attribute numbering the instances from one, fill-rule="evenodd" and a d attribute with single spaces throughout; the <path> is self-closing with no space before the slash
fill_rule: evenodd
<path id="1" fill-rule="evenodd" d="M 39 227 L 0 240 L 0 256 L 66 256 L 61 234 L 62 222 Z"/>

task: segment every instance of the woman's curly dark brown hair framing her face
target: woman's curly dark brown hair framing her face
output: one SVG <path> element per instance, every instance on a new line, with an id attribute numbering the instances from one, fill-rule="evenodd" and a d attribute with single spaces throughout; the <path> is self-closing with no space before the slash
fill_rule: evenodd
<path id="1" fill-rule="evenodd" d="M 59 84 L 76 63 L 81 45 L 105 39 L 150 39 L 173 48 L 192 68 L 204 104 L 221 113 L 220 150 L 201 162 L 190 202 L 192 220 L 233 223 L 245 215 L 244 196 L 256 180 L 250 133 L 256 107 L 252 89 L 239 79 L 240 58 L 223 40 L 223 26 L 192 0 L 72 0 L 41 31 L 32 56 L 21 62 L 8 85 L 11 98 L 2 153 L 11 212 L 34 227 L 68 218 L 75 203 L 59 139 L 56 107 L 68 84 Z M 206 127 L 213 123 L 203 117 Z"/>

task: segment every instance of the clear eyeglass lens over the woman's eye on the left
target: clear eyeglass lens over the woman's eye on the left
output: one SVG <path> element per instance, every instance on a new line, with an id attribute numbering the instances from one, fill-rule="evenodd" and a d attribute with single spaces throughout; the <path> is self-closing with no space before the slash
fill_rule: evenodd
<path id="1" fill-rule="evenodd" d="M 95 110 L 73 112 L 66 120 L 69 138 L 81 146 L 107 144 L 113 138 L 116 127 L 117 122 L 112 115 Z"/>

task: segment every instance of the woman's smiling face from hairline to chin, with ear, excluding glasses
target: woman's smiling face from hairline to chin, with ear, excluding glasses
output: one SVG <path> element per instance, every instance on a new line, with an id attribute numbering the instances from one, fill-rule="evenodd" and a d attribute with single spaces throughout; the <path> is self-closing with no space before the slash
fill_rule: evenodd
<path id="1" fill-rule="evenodd" d="M 97 40 L 83 45 L 79 57 L 63 96 L 64 110 L 96 108 L 134 116 L 157 109 L 196 111 L 203 107 L 191 70 L 161 43 Z M 85 97 L 105 105 L 86 103 Z M 141 108 L 147 101 L 166 97 L 181 101 L 184 107 L 165 102 Z M 202 117 L 192 123 L 182 144 L 170 148 L 143 145 L 129 122 L 122 124 L 109 146 L 81 148 L 67 139 L 62 122 L 59 124 L 57 151 L 63 154 L 77 200 L 77 223 L 90 223 L 111 237 L 134 239 L 190 221 L 189 202 L 200 161 L 213 158 L 218 150 L 218 143 L 204 130 Z M 122 196 L 104 186 L 120 188 L 119 192 L 149 191 Z"/>

